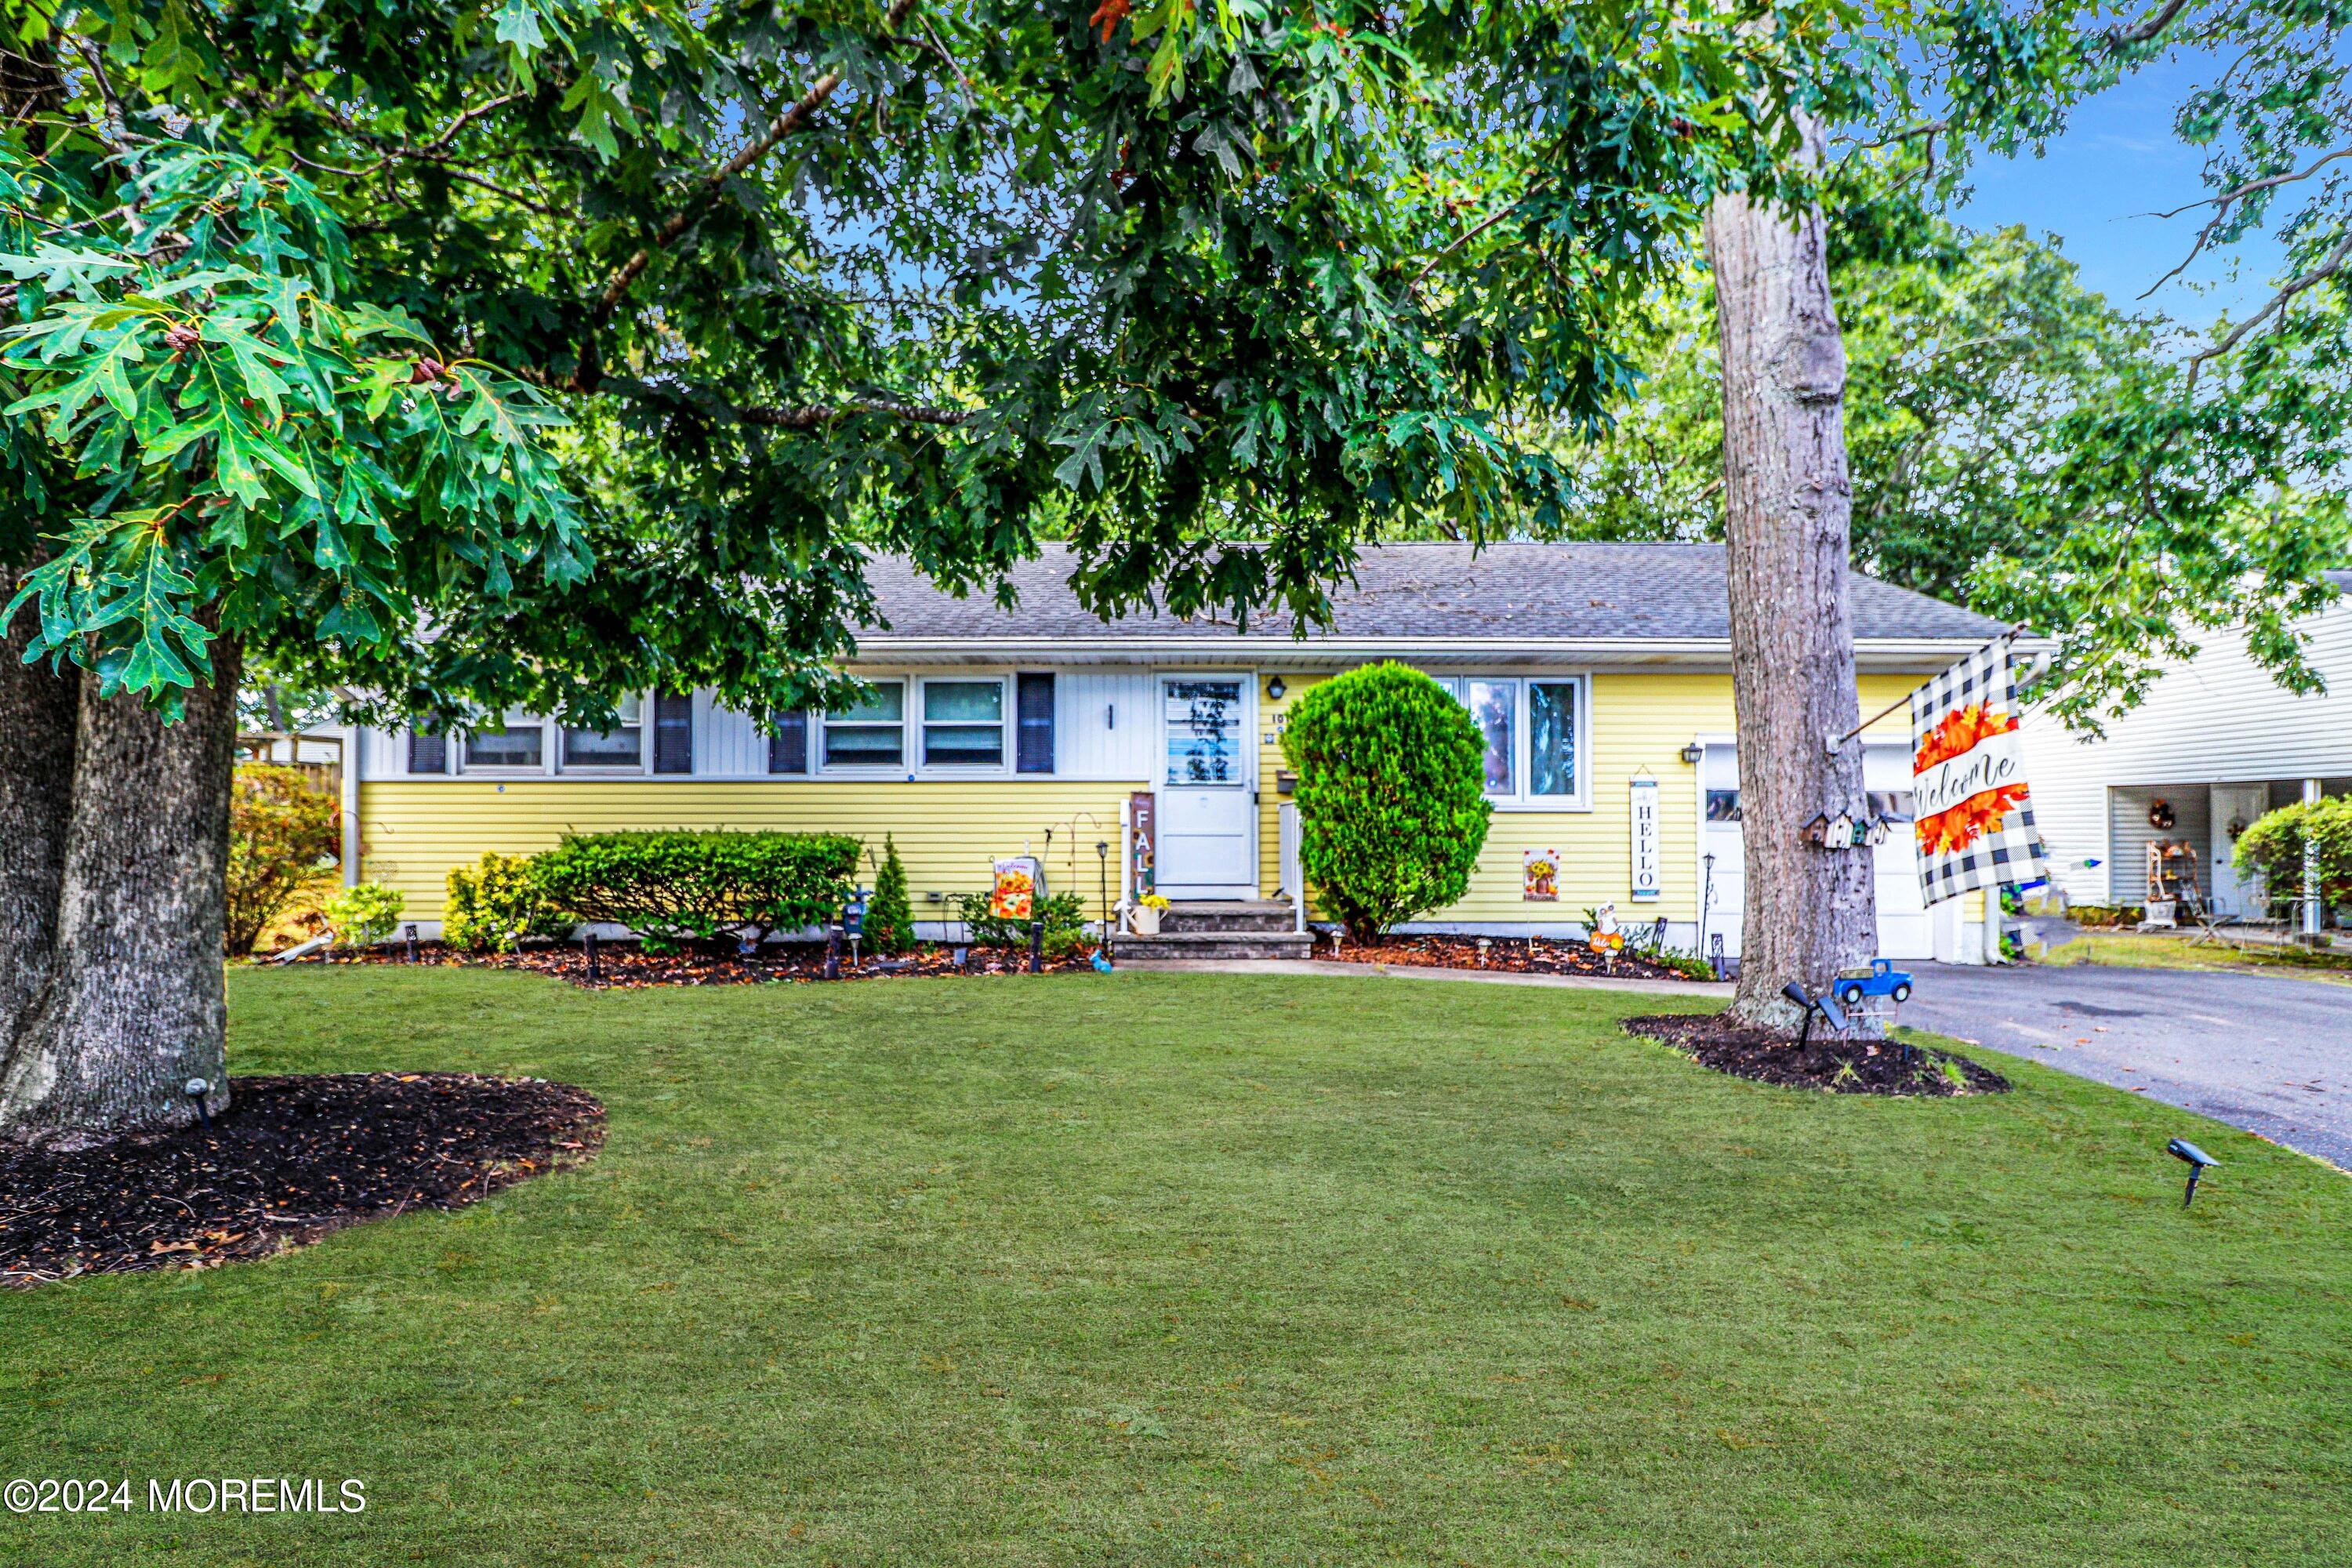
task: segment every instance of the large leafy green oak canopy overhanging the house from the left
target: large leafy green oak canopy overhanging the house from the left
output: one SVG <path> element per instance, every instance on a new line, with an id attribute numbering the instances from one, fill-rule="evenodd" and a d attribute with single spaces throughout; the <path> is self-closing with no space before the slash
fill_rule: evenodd
<path id="1" fill-rule="evenodd" d="M 1738 21 L 12 5 L 38 646 L 769 701 L 844 651 L 856 548 L 974 585 L 1042 517 L 1103 609 L 1312 614 L 1385 522 L 1557 505 L 1503 416 L 1599 421 L 1698 202 L 1769 181 L 1785 45 Z"/>

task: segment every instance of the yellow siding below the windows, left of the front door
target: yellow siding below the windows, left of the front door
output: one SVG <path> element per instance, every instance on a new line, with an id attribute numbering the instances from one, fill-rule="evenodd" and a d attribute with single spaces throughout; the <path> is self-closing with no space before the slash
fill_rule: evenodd
<path id="1" fill-rule="evenodd" d="M 407 919 L 440 919 L 445 877 L 485 849 L 527 856 L 564 832 L 623 827 L 769 827 L 847 832 L 880 856 L 894 835 L 915 919 L 953 917 L 957 893 L 988 889 L 995 856 L 1037 853 L 1047 886 L 1075 891 L 1089 919 L 1098 842 L 1110 844 L 1120 896 L 1120 806 L 1143 785 L 1115 780 L 842 780 L 842 778 L 452 778 L 360 785 L 360 875 L 407 898 Z M 1051 851 L 1047 830 L 1054 832 Z M 1075 877 L 1073 877 L 1073 853 Z M 858 867 L 873 886 L 873 865 Z M 946 893 L 929 903 L 924 893 Z"/>

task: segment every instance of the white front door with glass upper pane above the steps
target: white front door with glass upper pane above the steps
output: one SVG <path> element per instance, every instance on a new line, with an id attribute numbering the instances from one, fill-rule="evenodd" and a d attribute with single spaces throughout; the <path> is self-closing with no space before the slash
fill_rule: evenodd
<path id="1" fill-rule="evenodd" d="M 1258 896 L 1256 748 L 1249 675 L 1160 677 L 1160 856 L 1164 898 Z"/>

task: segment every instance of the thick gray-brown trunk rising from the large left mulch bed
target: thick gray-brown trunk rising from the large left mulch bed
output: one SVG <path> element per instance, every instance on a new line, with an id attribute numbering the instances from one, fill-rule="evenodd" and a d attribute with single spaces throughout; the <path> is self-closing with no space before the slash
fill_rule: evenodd
<path id="1" fill-rule="evenodd" d="M 82 677 L 56 966 L 0 1077 L 0 1135 L 89 1145 L 228 1107 L 221 926 L 240 649 L 179 724 Z"/>

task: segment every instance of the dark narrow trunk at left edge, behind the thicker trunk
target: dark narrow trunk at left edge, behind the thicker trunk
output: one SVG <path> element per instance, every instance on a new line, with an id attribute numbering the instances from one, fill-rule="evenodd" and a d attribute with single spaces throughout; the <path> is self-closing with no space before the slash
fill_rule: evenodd
<path id="1" fill-rule="evenodd" d="M 9 588 L 0 581 L 0 602 Z M 0 1077 L 56 961 L 56 893 L 73 804 L 78 670 L 24 663 L 38 618 L 0 630 Z"/>

